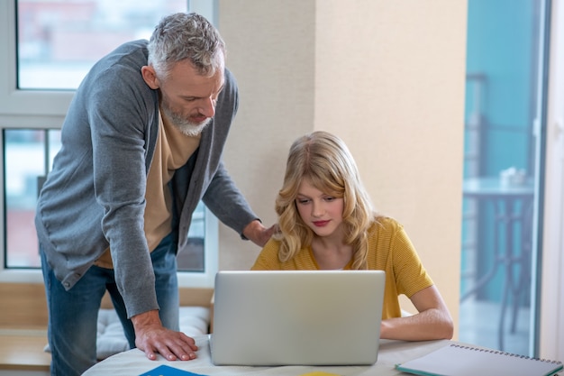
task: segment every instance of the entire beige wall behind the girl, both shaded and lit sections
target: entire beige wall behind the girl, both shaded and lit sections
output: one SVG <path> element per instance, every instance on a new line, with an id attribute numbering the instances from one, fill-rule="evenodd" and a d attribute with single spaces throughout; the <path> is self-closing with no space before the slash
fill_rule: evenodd
<path id="1" fill-rule="evenodd" d="M 276 220 L 274 197 L 298 135 L 338 134 L 457 320 L 466 1 L 219 4 L 241 92 L 224 159 L 257 214 Z M 248 269 L 259 252 L 223 225 L 220 246 L 220 269 Z"/>

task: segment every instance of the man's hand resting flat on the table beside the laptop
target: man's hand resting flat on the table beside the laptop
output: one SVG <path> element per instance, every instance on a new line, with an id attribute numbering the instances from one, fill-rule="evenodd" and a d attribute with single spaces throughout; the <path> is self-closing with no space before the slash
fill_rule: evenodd
<path id="1" fill-rule="evenodd" d="M 157 353 L 168 361 L 196 359 L 198 347 L 194 339 L 162 326 L 158 310 L 132 316 L 132 323 L 135 328 L 135 345 L 151 361 L 157 359 Z"/>

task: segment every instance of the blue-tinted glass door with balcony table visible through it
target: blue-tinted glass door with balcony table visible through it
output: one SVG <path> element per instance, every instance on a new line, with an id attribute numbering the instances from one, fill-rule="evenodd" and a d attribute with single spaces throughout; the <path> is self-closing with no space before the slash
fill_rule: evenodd
<path id="1" fill-rule="evenodd" d="M 543 0 L 468 0 L 459 340 L 535 356 Z"/>

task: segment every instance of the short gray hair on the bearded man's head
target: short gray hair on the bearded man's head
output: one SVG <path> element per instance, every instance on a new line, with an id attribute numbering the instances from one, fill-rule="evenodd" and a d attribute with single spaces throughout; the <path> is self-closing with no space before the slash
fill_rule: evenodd
<path id="1" fill-rule="evenodd" d="M 198 74 L 205 77 L 214 76 L 224 67 L 225 43 L 214 25 L 200 14 L 164 17 L 155 27 L 147 49 L 148 64 L 161 79 L 167 78 L 171 67 L 183 60 L 189 60 Z"/>

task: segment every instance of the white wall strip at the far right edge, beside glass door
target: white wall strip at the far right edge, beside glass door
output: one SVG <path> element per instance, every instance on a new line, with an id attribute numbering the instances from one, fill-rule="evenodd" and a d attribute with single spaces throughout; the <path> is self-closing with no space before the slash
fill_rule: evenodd
<path id="1" fill-rule="evenodd" d="M 551 10 L 549 103 L 542 230 L 540 354 L 564 360 L 564 4 Z"/>

